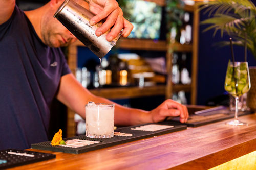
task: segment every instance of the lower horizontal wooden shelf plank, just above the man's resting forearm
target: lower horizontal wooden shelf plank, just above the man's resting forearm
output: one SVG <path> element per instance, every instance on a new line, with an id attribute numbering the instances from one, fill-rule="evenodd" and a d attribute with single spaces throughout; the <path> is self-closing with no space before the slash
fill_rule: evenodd
<path id="1" fill-rule="evenodd" d="M 139 98 L 153 95 L 165 95 L 165 85 L 156 85 L 150 87 L 116 87 L 116 88 L 97 88 L 90 89 L 94 95 L 108 99 L 127 99 Z M 189 92 L 191 85 L 174 85 L 173 91 L 178 92 L 184 90 Z"/>

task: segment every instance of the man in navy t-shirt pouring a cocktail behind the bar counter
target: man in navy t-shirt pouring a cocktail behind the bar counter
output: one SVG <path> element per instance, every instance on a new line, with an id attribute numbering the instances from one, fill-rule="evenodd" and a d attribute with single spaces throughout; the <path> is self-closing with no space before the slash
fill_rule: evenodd
<path id="1" fill-rule="evenodd" d="M 62 2 L 51 0 L 23 12 L 15 0 L 0 1 L 0 149 L 25 149 L 48 140 L 49 107 L 55 97 L 83 118 L 84 105 L 89 101 L 113 103 L 91 94 L 71 74 L 58 47 L 76 38 L 53 17 Z M 106 20 L 96 30 L 97 36 L 110 28 L 108 41 L 121 29 L 123 37 L 131 33 L 133 26 L 122 17 L 115 0 L 89 0 L 88 4 L 97 14 L 90 20 L 91 25 Z M 172 100 L 152 111 L 115 106 L 117 125 L 159 122 L 168 116 L 180 116 L 181 122 L 186 122 L 188 112 Z"/>

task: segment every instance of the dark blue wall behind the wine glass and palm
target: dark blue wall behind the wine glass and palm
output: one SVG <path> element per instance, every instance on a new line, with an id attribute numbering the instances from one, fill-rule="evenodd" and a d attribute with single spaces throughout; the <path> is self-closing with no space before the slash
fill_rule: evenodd
<path id="1" fill-rule="evenodd" d="M 200 14 L 200 20 L 208 15 Z M 222 95 L 225 92 L 224 81 L 228 60 L 231 59 L 230 47 L 214 46 L 215 42 L 229 41 L 229 36 L 221 37 L 218 32 L 213 37 L 213 31 L 203 32 L 207 26 L 200 25 L 199 29 L 199 60 L 198 60 L 198 98 L 197 104 L 205 105 L 207 100 Z M 244 61 L 244 48 L 233 46 L 237 61 Z M 247 53 L 249 66 L 255 66 L 256 60 L 251 53 Z"/>

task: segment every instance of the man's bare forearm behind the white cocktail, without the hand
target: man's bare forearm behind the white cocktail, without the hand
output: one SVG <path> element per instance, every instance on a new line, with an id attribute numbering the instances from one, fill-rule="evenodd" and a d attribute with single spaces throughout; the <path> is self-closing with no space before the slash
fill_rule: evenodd
<path id="1" fill-rule="evenodd" d="M 62 76 L 57 99 L 83 118 L 86 117 L 85 105 L 89 101 L 95 103 L 114 103 L 108 99 L 93 95 L 89 90 L 83 88 L 72 74 Z M 147 111 L 127 108 L 117 103 L 114 104 L 115 124 L 117 125 L 135 125 L 152 122 L 152 118 Z"/>

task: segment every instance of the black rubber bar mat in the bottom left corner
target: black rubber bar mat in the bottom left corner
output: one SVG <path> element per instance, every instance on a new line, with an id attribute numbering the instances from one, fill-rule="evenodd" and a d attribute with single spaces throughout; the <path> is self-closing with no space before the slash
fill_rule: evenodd
<path id="1" fill-rule="evenodd" d="M 54 154 L 40 153 L 34 151 L 25 151 L 17 149 L 6 149 L 0 151 L 0 169 L 11 168 L 15 166 L 26 165 L 53 159 Z"/>

